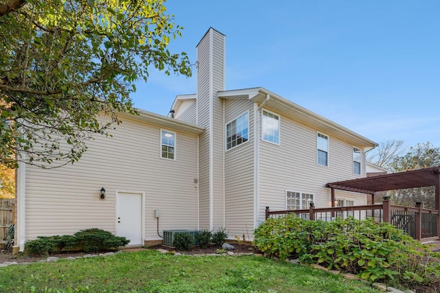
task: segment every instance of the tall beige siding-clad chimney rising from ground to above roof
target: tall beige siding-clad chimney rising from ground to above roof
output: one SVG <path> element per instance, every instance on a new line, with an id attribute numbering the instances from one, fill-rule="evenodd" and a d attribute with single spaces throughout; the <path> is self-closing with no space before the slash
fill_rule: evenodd
<path id="1" fill-rule="evenodd" d="M 197 125 L 206 128 L 200 136 L 199 204 L 200 227 L 222 228 L 224 224 L 224 38 L 208 30 L 197 45 Z"/>

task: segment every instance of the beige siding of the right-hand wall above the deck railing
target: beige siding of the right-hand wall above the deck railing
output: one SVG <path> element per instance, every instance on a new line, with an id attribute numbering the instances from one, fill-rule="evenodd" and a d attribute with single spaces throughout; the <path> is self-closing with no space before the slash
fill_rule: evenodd
<path id="1" fill-rule="evenodd" d="M 329 136 L 329 166 L 326 167 L 316 163 L 316 130 L 282 116 L 280 132 L 280 145 L 259 139 L 260 222 L 264 221 L 266 206 L 273 211 L 286 208 L 286 189 L 314 194 L 316 208 L 330 207 L 331 190 L 325 184 L 357 178 L 353 174 L 353 145 Z M 362 174 L 364 169 L 363 166 Z M 338 194 L 336 191 L 336 197 Z M 345 196 L 355 200 L 355 204 L 366 204 L 363 194 Z"/>

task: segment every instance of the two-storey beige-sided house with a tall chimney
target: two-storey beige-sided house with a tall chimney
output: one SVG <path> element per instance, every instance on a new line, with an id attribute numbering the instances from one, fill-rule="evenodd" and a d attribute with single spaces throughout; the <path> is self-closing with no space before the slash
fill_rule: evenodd
<path id="1" fill-rule="evenodd" d="M 225 36 L 212 28 L 197 45 L 197 94 L 177 96 L 168 117 L 120 119 L 74 165 L 19 167 L 16 249 L 90 227 L 132 245 L 175 229 L 224 227 L 249 239 L 267 205 L 330 207 L 325 184 L 365 177 L 365 152 L 377 145 L 267 89 L 225 90 Z"/>

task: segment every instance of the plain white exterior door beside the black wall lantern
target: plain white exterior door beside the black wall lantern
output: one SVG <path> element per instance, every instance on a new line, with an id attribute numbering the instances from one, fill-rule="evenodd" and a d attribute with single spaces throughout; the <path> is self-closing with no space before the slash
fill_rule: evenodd
<path id="1" fill-rule="evenodd" d="M 142 243 L 142 197 L 143 194 L 118 192 L 116 201 L 116 235 L 130 240 L 128 245 Z"/>

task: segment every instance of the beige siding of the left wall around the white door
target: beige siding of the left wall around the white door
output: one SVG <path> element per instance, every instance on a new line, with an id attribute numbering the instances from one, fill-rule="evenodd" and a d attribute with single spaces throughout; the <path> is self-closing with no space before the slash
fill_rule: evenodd
<path id="1" fill-rule="evenodd" d="M 101 117 L 100 119 L 107 119 Z M 197 228 L 197 136 L 176 132 L 175 161 L 160 158 L 160 128 L 134 119 L 89 141 L 83 158 L 56 169 L 26 168 L 26 238 L 97 227 L 115 232 L 115 192 L 145 198 L 145 238 L 159 230 Z M 106 189 L 105 200 L 99 190 Z"/>

